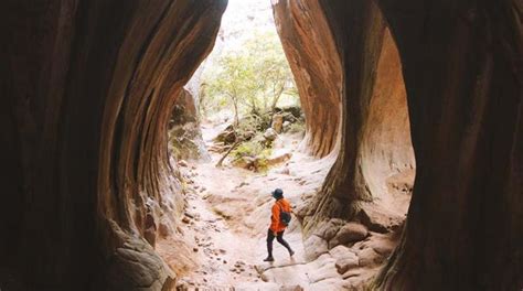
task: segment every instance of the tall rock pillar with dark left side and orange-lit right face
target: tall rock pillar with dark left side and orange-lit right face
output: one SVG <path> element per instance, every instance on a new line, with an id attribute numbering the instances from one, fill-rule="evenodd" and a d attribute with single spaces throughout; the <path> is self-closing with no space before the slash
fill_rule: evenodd
<path id="1" fill-rule="evenodd" d="M 345 9 L 338 4 L 321 7 L 344 68 L 341 147 L 321 195 L 302 215 L 307 229 L 324 218 L 341 217 L 384 231 L 398 227 L 404 217 L 396 213 L 406 209 L 399 205 L 389 211 L 380 204 L 396 198 L 408 204 L 415 168 L 402 65 L 385 20 L 372 1 L 354 1 Z M 399 182 L 392 182 L 396 176 Z M 405 193 L 394 196 L 391 187 L 398 183 Z"/>

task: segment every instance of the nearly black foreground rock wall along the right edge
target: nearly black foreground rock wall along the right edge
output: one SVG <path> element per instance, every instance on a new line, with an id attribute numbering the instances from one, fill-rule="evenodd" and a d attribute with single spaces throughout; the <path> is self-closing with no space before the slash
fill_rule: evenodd
<path id="1" fill-rule="evenodd" d="M 523 288 L 521 1 L 380 1 L 417 173 L 384 290 Z"/>

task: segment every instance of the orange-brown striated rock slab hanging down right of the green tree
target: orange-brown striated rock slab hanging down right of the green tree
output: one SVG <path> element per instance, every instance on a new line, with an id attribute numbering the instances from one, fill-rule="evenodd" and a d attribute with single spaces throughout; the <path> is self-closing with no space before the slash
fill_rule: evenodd
<path id="1" fill-rule="evenodd" d="M 274 1 L 273 9 L 306 116 L 302 149 L 324 157 L 339 141 L 341 120 L 342 74 L 334 40 L 317 0 Z"/>

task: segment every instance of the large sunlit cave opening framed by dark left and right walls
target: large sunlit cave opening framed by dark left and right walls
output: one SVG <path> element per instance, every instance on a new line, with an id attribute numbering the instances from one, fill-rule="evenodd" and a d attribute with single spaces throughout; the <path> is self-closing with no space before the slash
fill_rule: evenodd
<path id="1" fill-rule="evenodd" d="M 363 123 L 351 153 L 356 166 L 345 169 L 359 196 L 337 190 L 339 201 L 357 204 L 359 212 L 320 216 L 330 176 L 340 175 L 335 164 L 346 163 L 340 149 L 354 138 L 343 131 L 354 109 L 343 100 L 342 60 L 331 28 L 314 1 L 228 1 L 213 51 L 179 94 L 169 121 L 169 153 L 184 206 L 180 226 L 157 250 L 180 287 L 284 281 L 319 288 L 300 274 L 282 279 L 273 270 L 308 272 L 297 267 L 305 262 L 311 272 L 332 265 L 332 278 L 365 270 L 352 278 L 361 287 L 386 261 L 403 230 L 415 160 L 401 60 L 381 15 L 376 22 L 383 25 L 372 55 L 377 73 L 362 97 L 367 106 L 355 109 Z M 276 247 L 275 256 L 285 259 L 264 265 L 274 188 L 282 188 L 293 205 L 297 219 L 286 239 L 297 254 L 288 259 Z M 346 261 L 339 267 L 341 259 Z M 346 282 L 332 287 L 338 284 Z"/>

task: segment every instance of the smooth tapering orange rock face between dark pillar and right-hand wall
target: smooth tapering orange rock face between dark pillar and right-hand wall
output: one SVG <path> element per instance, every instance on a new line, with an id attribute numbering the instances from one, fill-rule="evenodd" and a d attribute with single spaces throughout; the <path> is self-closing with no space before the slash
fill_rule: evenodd
<path id="1" fill-rule="evenodd" d="M 376 69 L 357 163 L 367 191 L 373 197 L 383 197 L 388 179 L 404 174 L 412 185 L 412 176 L 405 173 L 415 172 L 402 63 L 388 30 L 383 35 Z"/>

